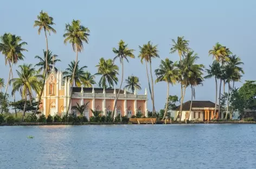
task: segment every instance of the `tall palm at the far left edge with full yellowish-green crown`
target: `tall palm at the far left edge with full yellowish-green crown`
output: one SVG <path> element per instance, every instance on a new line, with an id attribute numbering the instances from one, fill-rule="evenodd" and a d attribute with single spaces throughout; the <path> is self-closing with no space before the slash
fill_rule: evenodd
<path id="1" fill-rule="evenodd" d="M 23 60 L 24 55 L 22 51 L 28 51 L 24 49 L 23 46 L 27 44 L 27 42 L 22 42 L 22 38 L 20 36 L 4 34 L 0 37 L 0 52 L 5 56 L 5 65 L 9 63 L 10 70 L 9 76 L 7 80 L 7 85 L 5 86 L 4 100 L 7 95 L 8 84 L 10 82 L 10 75 L 12 75 L 12 66 L 16 64 L 19 60 Z M 13 78 L 13 76 L 12 76 Z M 14 94 L 14 102 L 15 102 L 15 94 Z M 15 109 L 16 112 L 16 109 Z M 3 113 L 3 109 L 2 112 Z"/>

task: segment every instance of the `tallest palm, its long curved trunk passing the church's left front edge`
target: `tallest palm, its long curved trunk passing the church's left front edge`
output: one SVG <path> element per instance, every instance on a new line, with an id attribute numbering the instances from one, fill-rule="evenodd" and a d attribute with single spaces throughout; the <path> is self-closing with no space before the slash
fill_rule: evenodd
<path id="1" fill-rule="evenodd" d="M 46 57 L 45 59 L 45 67 L 44 68 L 48 68 L 48 38 L 47 38 L 47 32 L 50 35 L 50 32 L 54 32 L 54 34 L 56 34 L 56 30 L 52 27 L 52 25 L 55 25 L 55 23 L 53 22 L 53 17 L 50 17 L 47 12 L 43 12 L 43 10 L 41 10 L 41 12 L 39 13 L 39 15 L 37 15 L 37 19 L 34 22 L 34 28 L 35 27 L 39 27 L 38 29 L 38 34 L 41 34 L 41 30 L 44 31 L 44 36 L 46 38 L 46 54 L 44 55 Z M 43 88 L 44 88 L 44 84 L 46 81 L 46 76 L 47 76 L 47 70 L 44 69 L 43 70 L 43 86 L 42 86 L 42 90 L 41 93 L 39 95 L 39 100 L 41 100 L 42 98 L 42 94 L 43 94 Z M 37 104 L 37 108 L 35 110 L 35 113 L 37 112 L 38 108 L 40 105 L 40 101 Z"/>

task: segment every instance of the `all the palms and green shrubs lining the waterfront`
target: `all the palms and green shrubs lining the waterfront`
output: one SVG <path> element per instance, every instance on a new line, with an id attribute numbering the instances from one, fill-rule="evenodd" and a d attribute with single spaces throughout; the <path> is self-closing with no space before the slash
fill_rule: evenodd
<path id="1" fill-rule="evenodd" d="M 54 67 L 56 62 L 60 62 L 61 58 L 57 54 L 53 54 L 48 46 L 48 40 L 51 35 L 50 33 L 57 33 L 54 29 L 54 18 L 48 15 L 47 12 L 41 11 L 34 22 L 34 27 L 38 28 L 38 34 L 44 33 L 46 46 L 43 49 L 43 56 L 35 56 L 38 63 L 33 66 L 32 64 L 18 65 L 21 60 L 25 59 L 24 53 L 28 52 L 28 43 L 25 42 L 25 38 L 5 33 L 0 38 L 0 53 L 4 56 L 5 65 L 9 67 L 8 79 L 0 79 L 0 111 L 2 120 L 17 121 L 18 112 L 22 112 L 21 121 L 38 121 L 38 122 L 108 122 L 108 121 L 129 121 L 127 117 L 116 117 L 114 118 L 114 110 L 116 102 L 118 100 L 119 92 L 115 98 L 114 108 L 112 116 L 101 116 L 99 112 L 94 111 L 94 116 L 87 119 L 85 116 L 71 115 L 66 112 L 62 118 L 60 116 L 48 116 L 41 115 L 39 118 L 35 118 L 37 114 L 40 114 L 39 102 L 35 101 L 36 96 L 39 100 L 42 97 L 44 89 L 44 83 L 47 75 L 51 71 L 57 71 Z M 33 23 L 31 23 L 33 26 Z M 59 33 L 59 32 L 58 32 Z M 124 61 L 129 63 L 129 59 L 133 59 L 136 56 L 133 54 L 135 49 L 130 49 L 125 41 L 120 40 L 117 48 L 113 48 L 113 60 L 101 58 L 99 63 L 95 66 L 98 69 L 97 73 L 91 73 L 85 70 L 87 67 L 81 65 L 79 62 L 78 55 L 84 49 L 84 44 L 89 43 L 90 30 L 85 27 L 80 20 L 71 21 L 65 25 L 65 32 L 63 32 L 63 43 L 70 43 L 75 53 L 74 60 L 71 59 L 71 63 L 68 64 L 67 69 L 63 72 L 64 78 L 69 79 L 71 86 L 76 87 L 92 87 L 98 85 L 99 87 L 113 88 L 117 85 L 120 80 L 120 88 L 123 86 L 124 80 Z M 113 44 L 114 46 L 114 44 Z M 44 48 L 44 47 L 42 47 Z M 183 36 L 179 36 L 176 39 L 171 40 L 170 54 L 177 54 L 178 61 L 172 61 L 170 58 L 162 59 L 159 68 L 155 69 L 156 78 L 154 78 L 154 70 L 152 68 L 153 60 L 162 58 L 159 56 L 158 46 L 153 42 L 149 41 L 145 44 L 138 46 L 139 55 L 137 56 L 141 63 L 145 63 L 146 77 L 148 79 L 148 89 L 150 93 L 150 100 L 152 101 L 151 113 L 149 116 L 156 117 L 159 120 L 165 118 L 170 119 L 170 111 L 175 108 L 175 102 L 180 101 L 181 105 L 184 101 L 186 89 L 189 87 L 191 92 L 191 103 L 195 99 L 195 86 L 203 84 L 205 79 L 213 78 L 215 80 L 215 112 L 217 105 L 221 106 L 220 111 L 225 112 L 225 119 L 232 119 L 234 112 L 241 113 L 244 109 L 256 109 L 256 84 L 255 81 L 246 81 L 241 88 L 235 88 L 235 83 L 241 81 L 241 77 L 244 74 L 242 64 L 244 64 L 239 56 L 232 53 L 232 50 L 227 46 L 223 46 L 220 43 L 216 43 L 212 49 L 209 47 L 208 55 L 213 56 L 213 63 L 209 66 L 204 66 L 199 62 L 200 57 L 196 54 L 196 51 L 190 48 L 189 41 Z M 58 59 L 57 59 L 58 58 Z M 121 63 L 121 72 L 119 67 L 114 61 L 119 59 Z M 18 65 L 16 70 L 17 76 L 13 75 L 13 66 Z M 121 79 L 118 79 L 117 75 L 121 74 Z M 99 82 L 95 81 L 95 76 L 99 76 Z M 219 81 L 219 82 L 218 82 Z M 141 89 L 139 83 L 139 77 L 131 75 L 125 80 L 125 88 L 135 92 L 136 89 Z M 165 82 L 167 84 L 167 98 L 163 110 L 157 113 L 155 109 L 155 95 L 154 88 L 157 87 L 156 83 Z M 170 85 L 180 86 L 180 96 L 171 96 L 169 94 Z M 11 93 L 7 93 L 8 87 L 11 87 Z M 218 91 L 219 87 L 219 91 Z M 223 90 L 222 90 L 223 87 Z M 2 92 L 2 88 L 5 90 Z M 72 95 L 71 88 L 71 95 Z M 15 94 L 19 92 L 22 100 L 16 101 Z M 13 101 L 10 101 L 12 98 Z M 219 98 L 219 100 L 218 100 Z M 67 110 L 71 106 L 71 101 L 67 106 Z M 82 109 L 77 105 L 77 109 Z M 15 115 L 11 115 L 11 109 L 15 111 Z M 30 115 L 25 115 L 26 112 L 30 112 Z M 191 106 L 190 111 L 191 112 Z M 142 114 L 136 114 L 133 118 L 142 117 Z M 182 116 L 182 106 L 180 107 L 180 114 L 174 119 Z M 4 117 L 4 118 L 3 118 Z M 213 119 L 215 120 L 215 119 Z"/>

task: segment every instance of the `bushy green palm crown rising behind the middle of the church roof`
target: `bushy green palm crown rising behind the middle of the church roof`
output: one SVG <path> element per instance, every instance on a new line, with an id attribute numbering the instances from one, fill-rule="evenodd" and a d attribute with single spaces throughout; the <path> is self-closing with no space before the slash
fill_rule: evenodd
<path id="1" fill-rule="evenodd" d="M 96 67 L 98 68 L 98 73 L 95 75 L 101 76 L 99 81 L 100 88 L 107 88 L 106 83 L 108 83 L 109 88 L 112 88 L 114 83 L 117 85 L 119 68 L 111 59 L 105 60 L 103 57 L 101 57 L 99 64 Z"/>

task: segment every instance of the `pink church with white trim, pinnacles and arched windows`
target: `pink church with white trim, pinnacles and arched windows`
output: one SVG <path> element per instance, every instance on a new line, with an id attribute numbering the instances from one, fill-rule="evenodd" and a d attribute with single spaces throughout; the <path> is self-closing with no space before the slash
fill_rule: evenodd
<path id="1" fill-rule="evenodd" d="M 102 115 L 107 115 L 107 113 L 113 112 L 118 89 L 73 87 L 72 98 L 70 97 L 70 92 L 71 83 L 67 79 L 63 81 L 61 72 L 50 73 L 44 85 L 40 112 L 46 116 L 49 114 L 65 115 L 71 99 L 69 113 L 78 114 L 76 110 L 72 109 L 72 106 L 77 103 L 84 105 L 88 102 L 84 112 L 88 119 L 93 116 L 91 109 L 101 111 Z M 136 90 L 134 93 L 127 92 L 126 89 L 120 90 L 114 116 L 120 114 L 130 118 L 137 113 L 142 113 L 142 116 L 148 116 L 147 100 L 146 89 L 144 94 L 137 94 Z"/>

